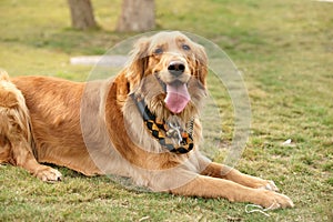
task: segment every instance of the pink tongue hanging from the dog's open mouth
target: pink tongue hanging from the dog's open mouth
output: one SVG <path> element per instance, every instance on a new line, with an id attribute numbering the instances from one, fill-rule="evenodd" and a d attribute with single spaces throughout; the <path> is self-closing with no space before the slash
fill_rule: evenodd
<path id="1" fill-rule="evenodd" d="M 167 98 L 164 100 L 168 109 L 173 113 L 180 113 L 190 101 L 186 84 L 167 84 Z"/>

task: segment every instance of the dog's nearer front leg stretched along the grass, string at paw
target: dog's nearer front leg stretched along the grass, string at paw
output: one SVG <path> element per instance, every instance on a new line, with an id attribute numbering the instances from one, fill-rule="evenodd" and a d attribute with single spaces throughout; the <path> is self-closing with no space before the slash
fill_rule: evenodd
<path id="1" fill-rule="evenodd" d="M 293 202 L 283 194 L 263 189 L 251 189 L 239 183 L 205 175 L 198 175 L 171 193 L 202 198 L 225 198 L 231 202 L 251 202 L 264 208 L 292 208 Z"/>

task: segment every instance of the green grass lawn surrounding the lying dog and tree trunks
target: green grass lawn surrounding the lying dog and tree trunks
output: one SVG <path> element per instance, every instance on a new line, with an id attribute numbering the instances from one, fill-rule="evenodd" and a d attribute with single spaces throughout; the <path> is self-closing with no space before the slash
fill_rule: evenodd
<path id="1" fill-rule="evenodd" d="M 99 30 L 70 28 L 65 1 L 0 2 L 0 67 L 11 75 L 84 80 L 91 67 L 70 57 L 102 54 L 134 34 L 115 33 L 121 1 L 93 1 Z M 60 168 L 46 184 L 24 170 L 0 167 L 0 221 L 332 221 L 333 3 L 305 0 L 157 1 L 158 30 L 183 30 L 215 42 L 249 90 L 251 137 L 238 168 L 274 180 L 294 209 L 246 214 L 244 203 L 127 190 L 107 176 Z M 219 88 L 211 87 L 218 97 Z M 232 109 L 218 98 L 224 138 Z M 223 111 L 224 114 L 223 114 Z M 281 145 L 292 139 L 293 145 Z"/>

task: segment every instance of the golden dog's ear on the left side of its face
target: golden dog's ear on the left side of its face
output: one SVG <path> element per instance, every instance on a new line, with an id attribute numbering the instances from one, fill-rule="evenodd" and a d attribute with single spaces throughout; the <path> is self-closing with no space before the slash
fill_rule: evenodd
<path id="1" fill-rule="evenodd" d="M 144 37 L 135 42 L 133 50 L 130 53 L 131 58 L 127 67 L 127 78 L 130 84 L 132 84 L 131 88 L 138 85 L 144 75 L 149 62 L 148 48 L 149 38 Z"/>

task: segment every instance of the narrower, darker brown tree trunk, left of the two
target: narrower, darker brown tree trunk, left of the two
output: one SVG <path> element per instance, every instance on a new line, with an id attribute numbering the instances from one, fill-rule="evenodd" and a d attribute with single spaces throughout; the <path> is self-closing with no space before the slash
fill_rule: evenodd
<path id="1" fill-rule="evenodd" d="M 74 29 L 97 28 L 90 0 L 68 0 L 68 3 Z"/>

